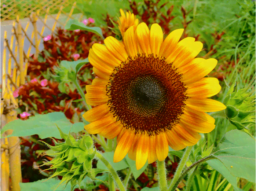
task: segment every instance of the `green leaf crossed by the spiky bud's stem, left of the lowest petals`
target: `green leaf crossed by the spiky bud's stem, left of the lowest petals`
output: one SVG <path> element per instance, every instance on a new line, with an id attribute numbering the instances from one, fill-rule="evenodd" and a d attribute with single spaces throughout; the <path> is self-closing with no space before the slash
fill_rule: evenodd
<path id="1" fill-rule="evenodd" d="M 116 163 L 113 162 L 114 152 L 105 152 L 105 153 L 102 153 L 102 155 L 104 158 L 107 159 L 107 161 L 109 161 L 109 163 L 115 170 L 122 170 L 129 167 L 127 162 L 125 162 L 124 160 L 121 160 L 120 162 L 116 162 Z M 98 161 L 97 168 L 108 170 L 108 168 L 106 167 L 106 165 L 103 164 L 102 161 Z"/>

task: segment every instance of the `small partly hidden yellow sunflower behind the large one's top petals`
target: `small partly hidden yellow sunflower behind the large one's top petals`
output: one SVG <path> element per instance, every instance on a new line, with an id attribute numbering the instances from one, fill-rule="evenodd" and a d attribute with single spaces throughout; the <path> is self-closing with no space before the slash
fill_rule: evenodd
<path id="1" fill-rule="evenodd" d="M 136 19 L 136 16 L 131 13 L 131 11 L 126 12 L 126 16 L 124 14 L 124 11 L 120 9 L 121 16 L 119 17 L 118 22 L 118 28 L 122 34 L 122 38 L 124 38 L 125 31 L 134 25 L 134 30 L 136 30 L 136 27 L 139 24 L 139 19 Z"/>

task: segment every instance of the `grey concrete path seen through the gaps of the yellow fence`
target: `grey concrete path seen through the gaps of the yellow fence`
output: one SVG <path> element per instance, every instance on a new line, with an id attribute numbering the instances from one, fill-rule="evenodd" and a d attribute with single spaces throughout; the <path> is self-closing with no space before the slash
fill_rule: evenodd
<path id="1" fill-rule="evenodd" d="M 52 18 L 51 16 L 52 16 L 53 18 Z M 52 27 L 53 27 L 53 25 L 54 25 L 54 23 L 55 23 L 54 18 L 56 18 L 56 14 L 55 14 L 55 15 L 51 15 L 51 16 L 48 15 L 46 25 L 52 29 Z M 77 18 L 77 19 L 78 19 L 78 18 L 81 17 L 81 14 L 74 14 L 74 15 L 72 15 L 72 16 L 73 16 L 73 18 Z M 66 19 L 67 19 L 67 16 L 65 16 L 65 15 L 60 15 L 58 21 L 61 21 L 62 23 L 65 23 L 65 22 L 66 22 Z M 44 17 L 42 17 L 42 20 L 44 21 Z M 29 18 L 20 19 L 20 23 L 21 23 L 23 29 L 25 29 L 25 27 L 26 27 L 26 25 L 27 25 L 28 22 L 30 22 L 30 19 L 29 19 Z M 12 36 L 12 23 L 13 23 L 13 20 L 1 22 L 1 30 L 0 30 L 0 31 L 1 31 L 1 34 L 0 34 L 0 36 L 1 36 L 1 46 L 0 46 L 0 50 L 1 50 L 1 58 L 0 58 L 1 69 L 2 69 L 2 65 L 3 65 L 4 31 L 7 31 L 7 39 L 8 39 L 8 41 L 9 41 L 9 43 L 10 43 L 10 41 L 11 41 L 11 36 Z M 17 25 L 16 25 L 16 26 L 17 26 Z M 37 30 L 38 30 L 39 32 L 41 32 L 41 29 L 42 29 L 43 26 L 44 26 L 43 22 L 41 22 L 40 19 L 37 19 Z M 56 24 L 56 27 L 59 27 L 59 26 L 60 26 L 60 24 L 57 23 L 57 24 Z M 55 27 L 55 29 L 56 29 L 56 27 Z M 61 26 L 61 27 L 64 28 L 64 26 Z M 27 29 L 27 32 L 26 32 L 26 33 L 28 34 L 28 37 L 29 37 L 29 38 L 31 38 L 32 31 L 33 31 L 33 25 L 32 25 L 32 23 L 30 22 L 30 25 L 29 25 L 29 27 L 28 27 L 28 29 Z M 45 28 L 44 28 L 44 32 L 43 32 L 43 36 L 45 37 L 45 36 L 47 36 L 47 35 L 49 35 L 49 34 L 51 34 L 51 30 L 48 29 L 47 27 L 45 27 Z M 38 38 L 39 38 L 39 34 L 38 34 Z M 12 48 L 12 51 L 13 51 L 13 52 L 14 52 L 14 49 L 15 49 L 15 42 L 16 42 L 16 39 L 15 39 L 15 37 L 14 37 L 14 43 L 13 43 L 13 48 Z M 33 41 L 33 43 L 34 43 L 34 41 Z M 28 39 L 25 37 L 25 40 L 24 40 L 24 48 L 23 48 L 25 52 L 28 51 L 29 45 L 30 45 L 30 42 L 29 42 Z M 39 45 L 39 51 L 41 51 L 43 48 L 44 48 L 44 45 L 43 45 L 43 39 L 42 39 L 41 42 L 40 42 L 40 45 Z M 6 58 L 6 65 L 7 65 L 7 63 L 8 63 L 8 58 L 9 58 L 9 57 L 8 57 L 9 51 L 8 51 L 8 48 L 6 48 L 6 49 L 7 49 L 7 50 L 6 50 L 6 52 L 7 52 L 7 54 L 6 54 L 6 55 L 7 55 L 7 58 Z M 31 51 L 30 51 L 30 54 L 33 54 L 34 52 L 35 52 L 35 48 L 32 46 Z M 19 57 L 18 57 L 18 56 L 17 56 L 17 60 L 19 60 Z M 14 65 L 14 60 L 12 59 L 12 67 L 13 67 L 13 65 Z M 2 76 L 2 72 L 1 72 L 1 76 Z"/>

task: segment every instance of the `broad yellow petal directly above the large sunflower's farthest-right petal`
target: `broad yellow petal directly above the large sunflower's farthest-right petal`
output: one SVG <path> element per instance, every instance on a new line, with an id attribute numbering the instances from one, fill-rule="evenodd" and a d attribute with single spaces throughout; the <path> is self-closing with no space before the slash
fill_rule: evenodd
<path id="1" fill-rule="evenodd" d="M 189 98 L 208 98 L 219 93 L 221 89 L 217 78 L 202 78 L 187 86 L 186 93 Z"/>

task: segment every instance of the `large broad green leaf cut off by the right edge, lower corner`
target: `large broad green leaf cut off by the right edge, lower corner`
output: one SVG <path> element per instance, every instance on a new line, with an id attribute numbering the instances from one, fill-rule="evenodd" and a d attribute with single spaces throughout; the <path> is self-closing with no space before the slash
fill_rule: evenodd
<path id="1" fill-rule="evenodd" d="M 255 141 L 247 133 L 232 130 L 227 132 L 213 156 L 218 158 L 235 177 L 255 183 Z"/>

